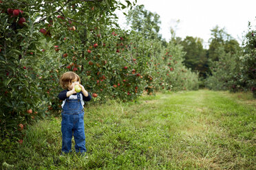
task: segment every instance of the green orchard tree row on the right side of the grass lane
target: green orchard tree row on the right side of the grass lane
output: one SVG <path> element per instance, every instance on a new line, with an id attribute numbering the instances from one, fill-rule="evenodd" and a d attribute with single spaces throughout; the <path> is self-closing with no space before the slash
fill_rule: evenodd
<path id="1" fill-rule="evenodd" d="M 211 62 L 211 73 L 207 79 L 207 86 L 213 90 L 231 90 L 237 92 L 239 90 L 251 90 L 253 96 L 255 95 L 256 86 L 256 58 L 255 48 L 256 39 L 254 36 L 255 30 L 252 29 L 250 24 L 248 25 L 248 32 L 244 39 L 243 50 L 240 47 L 226 52 L 226 46 L 219 47 L 215 51 L 219 60 Z M 229 41 L 231 44 L 232 41 Z"/>

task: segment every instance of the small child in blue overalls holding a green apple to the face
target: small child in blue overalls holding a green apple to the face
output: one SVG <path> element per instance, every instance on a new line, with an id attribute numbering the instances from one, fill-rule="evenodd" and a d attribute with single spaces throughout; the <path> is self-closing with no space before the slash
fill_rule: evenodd
<path id="1" fill-rule="evenodd" d="M 62 107 L 62 154 L 67 154 L 72 151 L 72 136 L 74 135 L 76 153 L 85 154 L 87 149 L 85 148 L 85 127 L 83 122 L 84 101 L 90 101 L 91 95 L 81 85 L 80 77 L 72 72 L 68 71 L 61 76 L 61 87 L 65 90 L 58 94 L 58 98 L 63 100 Z M 76 93 L 75 85 L 81 87 L 81 92 Z"/>

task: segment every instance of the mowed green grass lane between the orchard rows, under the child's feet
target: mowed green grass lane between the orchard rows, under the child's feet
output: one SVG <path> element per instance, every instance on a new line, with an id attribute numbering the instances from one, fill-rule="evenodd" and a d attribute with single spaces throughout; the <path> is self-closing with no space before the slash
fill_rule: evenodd
<path id="1" fill-rule="evenodd" d="M 161 93 L 137 103 L 89 105 L 85 112 L 88 158 L 59 156 L 59 117 L 28 127 L 17 150 L 0 152 L 1 162 L 12 169 L 256 169 L 250 94 Z"/>

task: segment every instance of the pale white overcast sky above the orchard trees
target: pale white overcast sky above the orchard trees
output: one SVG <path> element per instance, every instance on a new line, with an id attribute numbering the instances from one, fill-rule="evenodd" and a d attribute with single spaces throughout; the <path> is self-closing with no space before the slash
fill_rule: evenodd
<path id="1" fill-rule="evenodd" d="M 240 44 L 248 30 L 248 21 L 256 25 L 256 0 L 138 0 L 137 4 L 160 15 L 162 38 L 169 40 L 173 27 L 176 36 L 182 39 L 202 38 L 204 48 L 208 48 L 211 29 L 216 25 Z M 125 28 L 125 16 L 122 12 L 117 15 L 119 25 Z"/>

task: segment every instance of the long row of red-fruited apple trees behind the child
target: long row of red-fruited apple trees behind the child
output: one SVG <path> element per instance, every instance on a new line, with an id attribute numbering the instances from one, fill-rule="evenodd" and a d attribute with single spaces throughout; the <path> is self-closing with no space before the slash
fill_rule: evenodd
<path id="1" fill-rule="evenodd" d="M 181 63 L 182 48 L 160 39 L 157 14 L 142 10 L 145 34 L 118 27 L 114 11 L 135 5 L 125 3 L 1 1 L 1 138 L 22 139 L 29 123 L 52 111 L 59 114 L 58 80 L 65 71 L 81 76 L 89 93 L 98 96 L 95 103 L 131 101 L 160 87 L 197 89 L 198 75 Z M 173 56 L 169 65 L 166 50 Z"/>

